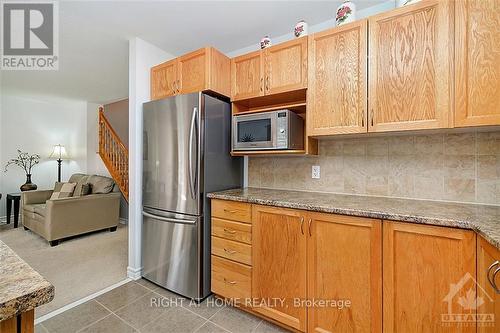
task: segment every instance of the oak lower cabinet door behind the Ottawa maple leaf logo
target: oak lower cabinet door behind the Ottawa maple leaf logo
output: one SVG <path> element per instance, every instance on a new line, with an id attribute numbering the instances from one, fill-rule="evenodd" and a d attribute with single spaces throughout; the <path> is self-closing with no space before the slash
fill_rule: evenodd
<path id="1" fill-rule="evenodd" d="M 384 332 L 475 332 L 473 231 L 384 221 Z"/>

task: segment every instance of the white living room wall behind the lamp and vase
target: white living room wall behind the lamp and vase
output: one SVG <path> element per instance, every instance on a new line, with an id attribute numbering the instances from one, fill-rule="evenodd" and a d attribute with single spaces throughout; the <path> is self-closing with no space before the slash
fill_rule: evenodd
<path id="1" fill-rule="evenodd" d="M 48 159 L 55 144 L 62 144 L 70 155 L 62 165 L 62 180 L 87 169 L 87 103 L 44 96 L 25 96 L 2 92 L 0 120 L 0 173 L 3 193 L 0 216 L 5 215 L 5 194 L 19 192 L 26 177 L 22 169 L 11 166 L 3 172 L 7 160 L 17 149 L 36 153 L 41 163 L 32 170 L 32 181 L 39 189 L 51 189 L 57 180 L 57 162 Z"/>

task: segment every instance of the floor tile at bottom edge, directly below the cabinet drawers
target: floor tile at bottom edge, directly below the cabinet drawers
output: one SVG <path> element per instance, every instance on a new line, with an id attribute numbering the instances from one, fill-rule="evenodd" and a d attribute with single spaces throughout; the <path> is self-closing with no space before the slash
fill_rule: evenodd
<path id="1" fill-rule="evenodd" d="M 213 316 L 210 321 L 231 332 L 245 333 L 252 332 L 257 325 L 259 325 L 261 319 L 249 313 L 227 306 L 217 312 L 217 314 Z"/>

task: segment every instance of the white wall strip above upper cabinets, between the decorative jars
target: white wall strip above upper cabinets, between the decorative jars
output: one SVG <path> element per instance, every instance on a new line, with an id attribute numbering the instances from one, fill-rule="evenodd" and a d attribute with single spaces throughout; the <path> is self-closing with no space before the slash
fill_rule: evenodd
<path id="1" fill-rule="evenodd" d="M 384 3 L 381 3 L 380 5 L 372 6 L 372 7 L 365 8 L 363 10 L 357 11 L 356 17 L 358 19 L 366 18 L 368 16 L 379 14 L 379 13 L 388 11 L 390 9 L 393 9 L 395 6 L 396 6 L 396 3 L 395 3 L 394 0 L 388 0 L 388 1 L 384 2 Z M 321 23 L 318 23 L 318 24 L 310 25 L 308 30 L 309 30 L 309 33 L 311 34 L 311 33 L 314 33 L 314 32 L 323 31 L 323 30 L 327 30 L 327 29 L 333 28 L 333 27 L 335 27 L 335 25 L 336 25 L 335 24 L 335 18 L 332 16 L 332 19 L 330 19 L 328 21 L 324 21 L 324 22 L 321 22 Z M 279 44 L 279 43 L 282 43 L 282 42 L 286 42 L 288 40 L 291 40 L 291 39 L 295 38 L 295 36 L 293 35 L 291 29 L 290 29 L 290 33 L 288 33 L 286 35 L 269 36 L 269 37 L 271 37 L 273 45 Z M 232 57 L 236 57 L 236 56 L 248 53 L 248 52 L 252 52 L 252 51 L 258 50 L 259 47 L 260 47 L 259 46 L 259 41 L 256 41 L 255 44 L 252 44 L 252 45 L 249 45 L 247 47 L 243 47 L 243 48 L 240 48 L 240 49 L 228 52 L 227 56 L 231 57 L 231 58 Z"/>

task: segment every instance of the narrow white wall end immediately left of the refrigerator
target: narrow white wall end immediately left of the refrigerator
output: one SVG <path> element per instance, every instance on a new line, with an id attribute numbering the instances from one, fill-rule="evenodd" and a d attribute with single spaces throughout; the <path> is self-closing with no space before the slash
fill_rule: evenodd
<path id="1" fill-rule="evenodd" d="M 142 231 L 142 103 L 149 101 L 149 70 L 174 58 L 142 39 L 129 41 L 129 266 L 132 279 L 141 276 Z"/>

